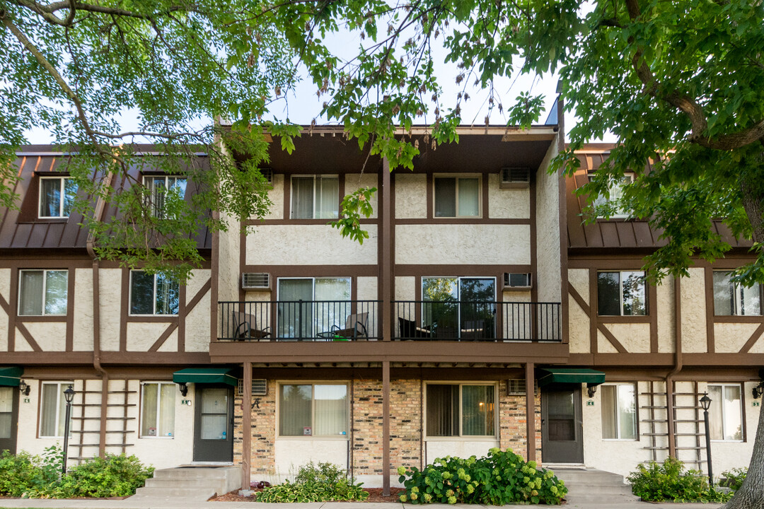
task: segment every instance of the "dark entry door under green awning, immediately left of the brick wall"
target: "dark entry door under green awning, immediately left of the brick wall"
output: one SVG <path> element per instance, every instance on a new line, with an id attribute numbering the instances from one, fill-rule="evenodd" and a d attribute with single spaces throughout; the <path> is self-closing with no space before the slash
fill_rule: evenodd
<path id="1" fill-rule="evenodd" d="M 196 384 L 193 460 L 234 459 L 234 394 L 230 385 Z"/>

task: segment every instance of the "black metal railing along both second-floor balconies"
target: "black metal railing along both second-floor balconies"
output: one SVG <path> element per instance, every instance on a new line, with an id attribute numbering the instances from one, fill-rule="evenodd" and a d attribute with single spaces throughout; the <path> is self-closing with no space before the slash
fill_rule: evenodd
<path id="1" fill-rule="evenodd" d="M 219 340 L 380 340 L 380 301 L 219 302 Z M 392 340 L 562 339 L 560 303 L 393 301 Z"/>

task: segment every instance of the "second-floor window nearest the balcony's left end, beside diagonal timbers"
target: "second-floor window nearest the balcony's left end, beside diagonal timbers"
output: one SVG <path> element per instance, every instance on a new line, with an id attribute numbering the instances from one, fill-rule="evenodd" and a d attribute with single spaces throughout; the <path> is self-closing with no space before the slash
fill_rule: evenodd
<path id="1" fill-rule="evenodd" d="M 162 274 L 130 272 L 130 314 L 178 314 L 180 285 Z"/>

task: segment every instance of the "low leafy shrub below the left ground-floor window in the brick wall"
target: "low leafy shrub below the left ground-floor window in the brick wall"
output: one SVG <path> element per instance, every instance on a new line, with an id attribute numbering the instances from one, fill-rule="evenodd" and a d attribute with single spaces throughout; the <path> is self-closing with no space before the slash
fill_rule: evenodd
<path id="1" fill-rule="evenodd" d="M 349 478 L 342 467 L 329 462 L 301 466 L 295 482 L 267 486 L 257 494 L 258 502 L 364 501 L 369 494 Z"/>

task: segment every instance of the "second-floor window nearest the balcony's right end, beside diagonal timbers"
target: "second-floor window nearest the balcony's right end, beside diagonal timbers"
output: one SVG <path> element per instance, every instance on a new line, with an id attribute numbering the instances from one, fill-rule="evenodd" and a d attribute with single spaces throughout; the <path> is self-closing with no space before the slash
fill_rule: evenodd
<path id="1" fill-rule="evenodd" d="M 601 316 L 647 314 L 644 272 L 597 272 L 597 306 Z"/>

